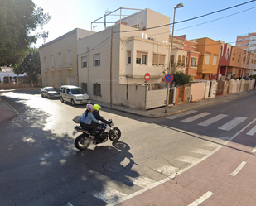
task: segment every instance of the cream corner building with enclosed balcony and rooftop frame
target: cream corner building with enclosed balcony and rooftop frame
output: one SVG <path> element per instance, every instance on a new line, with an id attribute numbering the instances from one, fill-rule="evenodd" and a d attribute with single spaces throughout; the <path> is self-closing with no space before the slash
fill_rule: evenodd
<path id="1" fill-rule="evenodd" d="M 145 89 L 142 90 L 142 95 L 134 93 L 140 86 L 145 87 L 146 73 L 151 75 L 147 90 L 160 89 L 169 59 L 169 26 L 146 30 L 159 26 L 159 22 L 169 24 L 170 18 L 147 8 L 122 18 L 104 31 L 77 41 L 79 85 L 89 93 L 91 99 L 110 102 L 112 30 L 113 103 L 120 105 L 130 101 L 130 107 L 140 108 L 140 105 L 133 105 L 131 99 L 134 98 L 134 102 L 138 103 L 145 102 Z M 102 44 L 99 46 L 100 42 Z M 131 88 L 134 88 L 133 95 Z"/>

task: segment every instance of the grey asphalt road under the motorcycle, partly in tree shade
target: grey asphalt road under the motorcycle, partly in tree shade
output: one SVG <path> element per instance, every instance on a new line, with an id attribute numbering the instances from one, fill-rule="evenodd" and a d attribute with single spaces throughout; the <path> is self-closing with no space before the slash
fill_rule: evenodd
<path id="1" fill-rule="evenodd" d="M 117 203 L 204 160 L 256 117 L 254 93 L 159 119 L 105 108 L 120 142 L 77 151 L 72 118 L 85 106 L 36 93 L 3 98 L 19 115 L 0 124 L 0 205 Z"/>

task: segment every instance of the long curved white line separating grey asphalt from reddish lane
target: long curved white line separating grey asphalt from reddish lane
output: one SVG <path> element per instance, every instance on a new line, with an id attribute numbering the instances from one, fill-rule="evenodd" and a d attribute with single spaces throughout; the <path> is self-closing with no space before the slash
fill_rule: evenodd
<path id="1" fill-rule="evenodd" d="M 209 156 L 213 155 L 216 151 L 219 151 L 223 146 L 227 145 L 227 144 L 229 143 L 229 141 L 232 141 L 235 137 L 239 136 L 239 134 L 240 134 L 241 132 L 244 132 L 244 130 L 247 129 L 247 128 L 248 128 L 251 124 L 253 124 L 255 121 L 256 121 L 256 119 L 254 119 L 252 122 L 249 122 L 248 125 L 246 125 L 244 128 L 242 128 L 239 132 L 236 132 L 236 133 L 234 134 L 234 136 L 233 136 L 233 137 L 230 137 L 229 140 L 228 140 L 228 141 L 225 141 L 224 144 L 218 145 L 218 146 L 215 148 L 214 151 L 210 152 L 210 154 L 208 154 L 207 156 L 204 156 L 203 158 L 200 158 L 200 160 L 199 160 L 198 162 L 196 162 L 196 164 L 192 164 L 192 165 L 189 165 L 189 166 L 187 166 L 187 167 L 185 167 L 185 168 L 183 168 L 183 169 L 181 169 L 181 170 L 178 170 L 178 171 L 176 172 L 176 174 L 174 174 L 174 175 L 170 175 L 170 176 L 168 176 L 167 178 L 165 178 L 165 179 L 163 179 L 163 180 L 160 180 L 160 181 L 158 181 L 158 182 L 155 182 L 154 184 L 151 184 L 151 185 L 147 186 L 146 188 L 140 189 L 140 190 L 138 190 L 137 192 L 135 192 L 135 193 L 133 193 L 133 194 L 128 194 L 127 196 L 123 197 L 123 199 L 118 199 L 117 201 L 114 201 L 114 202 L 112 202 L 111 204 L 107 204 L 107 205 L 108 205 L 108 206 L 114 206 L 114 205 L 120 204 L 120 203 L 122 203 L 122 202 L 125 201 L 125 200 L 132 199 L 132 198 L 138 196 L 139 194 L 142 194 L 142 193 L 144 193 L 144 192 L 147 192 L 149 189 L 153 189 L 153 188 L 157 187 L 157 186 L 160 185 L 160 184 L 164 184 L 164 183 L 166 183 L 167 181 L 170 181 L 170 179 L 175 178 L 177 175 L 181 175 L 181 174 L 182 174 L 183 172 L 185 172 L 186 170 L 191 169 L 193 166 L 199 164 L 199 163 L 202 162 L 203 160 L 207 159 Z M 169 127 L 169 128 L 175 129 L 175 128 L 173 128 L 173 127 Z M 179 130 L 179 131 L 182 131 L 182 130 Z"/>

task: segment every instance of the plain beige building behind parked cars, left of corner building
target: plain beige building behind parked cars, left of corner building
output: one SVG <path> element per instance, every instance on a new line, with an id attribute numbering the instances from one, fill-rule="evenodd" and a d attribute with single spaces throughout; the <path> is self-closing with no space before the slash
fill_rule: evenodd
<path id="1" fill-rule="evenodd" d="M 91 31 L 76 28 L 39 47 L 43 86 L 78 85 L 77 41 Z"/>

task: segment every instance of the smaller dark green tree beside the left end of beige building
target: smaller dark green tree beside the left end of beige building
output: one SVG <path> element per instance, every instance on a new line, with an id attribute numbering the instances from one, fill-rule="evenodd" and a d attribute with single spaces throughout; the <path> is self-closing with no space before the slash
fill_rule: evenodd
<path id="1" fill-rule="evenodd" d="M 28 55 L 22 60 L 21 64 L 13 67 L 15 74 L 27 74 L 27 79 L 34 87 L 38 83 L 39 76 L 41 75 L 41 65 L 39 51 L 36 48 L 30 48 Z"/>

